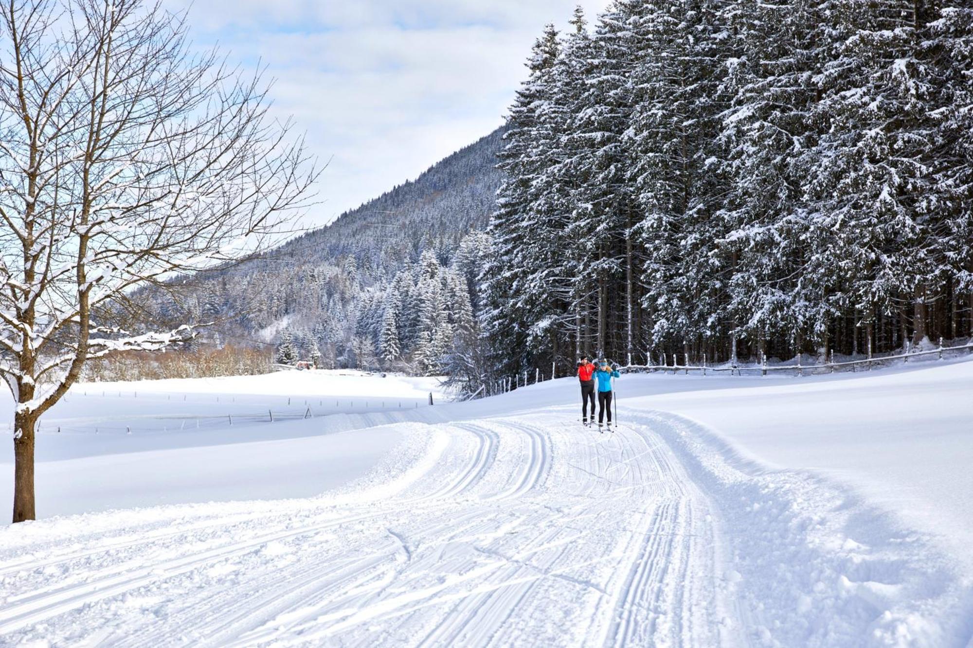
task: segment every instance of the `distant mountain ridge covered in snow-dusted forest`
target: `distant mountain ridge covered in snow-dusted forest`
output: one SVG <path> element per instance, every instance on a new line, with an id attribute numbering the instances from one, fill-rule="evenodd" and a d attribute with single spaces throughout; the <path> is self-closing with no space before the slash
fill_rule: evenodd
<path id="1" fill-rule="evenodd" d="M 465 236 L 486 230 L 504 132 L 493 130 L 414 180 L 250 261 L 149 289 L 145 306 L 166 324 L 218 322 L 201 334 L 203 344 L 279 346 L 286 334 L 301 356 L 328 347 L 335 366 L 345 357 L 354 366 L 348 351 L 356 338 L 371 339 L 378 353 L 375 322 L 361 320 L 380 293 L 424 253 L 447 268 Z"/>

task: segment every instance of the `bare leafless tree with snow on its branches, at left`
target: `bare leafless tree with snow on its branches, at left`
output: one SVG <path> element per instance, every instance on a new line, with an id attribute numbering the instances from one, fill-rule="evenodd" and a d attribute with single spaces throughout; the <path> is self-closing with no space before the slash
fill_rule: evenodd
<path id="1" fill-rule="evenodd" d="M 16 402 L 14 522 L 38 418 L 84 363 L 192 336 L 104 321 L 142 284 L 266 247 L 317 172 L 267 90 L 142 0 L 9 0 L 0 24 L 0 375 Z"/>

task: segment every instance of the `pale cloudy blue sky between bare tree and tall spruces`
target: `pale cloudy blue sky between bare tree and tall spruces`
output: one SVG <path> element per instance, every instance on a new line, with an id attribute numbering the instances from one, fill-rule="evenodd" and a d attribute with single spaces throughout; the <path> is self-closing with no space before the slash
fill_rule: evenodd
<path id="1" fill-rule="evenodd" d="M 328 166 L 304 225 L 376 198 L 503 123 L 544 25 L 608 0 L 167 0 L 194 44 L 266 68 Z"/>

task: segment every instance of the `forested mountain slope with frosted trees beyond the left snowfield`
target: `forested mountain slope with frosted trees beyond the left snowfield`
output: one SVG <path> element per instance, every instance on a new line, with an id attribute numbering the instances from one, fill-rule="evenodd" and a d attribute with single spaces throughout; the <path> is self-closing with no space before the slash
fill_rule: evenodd
<path id="1" fill-rule="evenodd" d="M 281 359 L 288 362 L 312 357 L 327 367 L 411 362 L 423 328 L 416 301 L 423 276 L 437 279 L 443 291 L 426 305 L 437 313 L 424 316 L 425 329 L 455 324 L 439 320 L 450 317 L 447 300 L 469 305 L 471 312 L 462 317 L 473 316 L 476 298 L 469 291 L 479 272 L 475 257 L 482 256 L 476 250 L 485 250 L 485 238 L 477 233 L 494 209 L 502 140 L 498 128 L 331 225 L 241 266 L 149 291 L 146 304 L 163 320 L 218 322 L 202 334 L 205 342 L 270 343 L 282 347 Z M 467 280 L 458 281 L 458 273 Z M 466 294 L 457 296 L 461 283 Z M 395 313 L 386 322 L 396 339 L 385 332 L 387 361 L 380 362 L 383 304 L 392 285 L 401 316 Z"/>

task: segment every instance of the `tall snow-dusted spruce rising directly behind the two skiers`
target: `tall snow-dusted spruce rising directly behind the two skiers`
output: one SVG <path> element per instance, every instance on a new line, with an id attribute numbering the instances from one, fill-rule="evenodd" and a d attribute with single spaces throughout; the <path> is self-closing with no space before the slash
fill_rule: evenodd
<path id="1" fill-rule="evenodd" d="M 579 245 L 571 274 L 578 281 L 583 352 L 623 361 L 634 343 L 638 278 L 632 232 L 638 214 L 624 139 L 634 108 L 632 75 L 649 54 L 642 38 L 649 7 L 619 0 L 598 17 L 583 69 L 585 91 L 570 111 L 575 117 L 565 140 L 575 161 L 572 234 Z"/>

